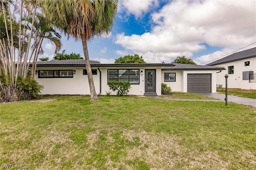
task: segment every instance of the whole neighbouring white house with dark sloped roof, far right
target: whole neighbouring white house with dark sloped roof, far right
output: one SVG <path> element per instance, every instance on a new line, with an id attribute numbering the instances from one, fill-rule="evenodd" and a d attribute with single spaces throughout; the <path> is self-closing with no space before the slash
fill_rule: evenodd
<path id="1" fill-rule="evenodd" d="M 217 74 L 217 84 L 225 87 L 226 82 L 223 79 L 228 74 L 228 88 L 256 89 L 256 47 L 234 53 L 208 66 L 225 67 L 222 74 Z"/>

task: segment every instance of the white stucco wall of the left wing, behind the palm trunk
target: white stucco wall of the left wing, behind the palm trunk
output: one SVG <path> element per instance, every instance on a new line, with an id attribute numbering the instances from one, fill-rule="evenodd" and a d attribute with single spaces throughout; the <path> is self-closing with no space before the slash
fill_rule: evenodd
<path id="1" fill-rule="evenodd" d="M 73 78 L 38 78 L 39 72 L 35 75 L 36 81 L 44 86 L 42 94 L 81 94 L 89 95 L 90 88 L 87 75 L 83 75 L 85 67 L 40 67 L 36 70 L 76 70 Z M 92 67 L 92 69 L 97 69 Z M 100 73 L 93 75 L 96 93 L 100 92 Z"/>

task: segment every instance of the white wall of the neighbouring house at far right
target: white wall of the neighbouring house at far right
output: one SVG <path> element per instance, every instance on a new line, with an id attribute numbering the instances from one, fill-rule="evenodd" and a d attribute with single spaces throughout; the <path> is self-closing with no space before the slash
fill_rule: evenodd
<path id="1" fill-rule="evenodd" d="M 250 66 L 244 66 L 244 62 L 247 61 L 250 61 Z M 256 89 L 256 82 L 243 80 L 243 71 L 254 71 L 254 74 L 256 74 L 256 57 L 215 66 L 226 68 L 226 70 L 222 70 L 222 72 L 217 74 L 217 84 L 222 84 L 223 87 L 226 86 L 224 75 L 228 74 L 228 66 L 234 66 L 234 74 L 228 74 L 228 88 Z"/>

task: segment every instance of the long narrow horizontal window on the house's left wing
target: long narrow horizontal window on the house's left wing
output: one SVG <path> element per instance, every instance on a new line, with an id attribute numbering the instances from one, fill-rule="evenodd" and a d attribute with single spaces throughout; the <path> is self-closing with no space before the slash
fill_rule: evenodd
<path id="1" fill-rule="evenodd" d="M 73 78 L 73 70 L 39 70 L 38 78 Z"/>

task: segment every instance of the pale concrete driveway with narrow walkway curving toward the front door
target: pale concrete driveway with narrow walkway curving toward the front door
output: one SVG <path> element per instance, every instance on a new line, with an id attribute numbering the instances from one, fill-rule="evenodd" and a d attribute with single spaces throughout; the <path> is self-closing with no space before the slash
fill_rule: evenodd
<path id="1" fill-rule="evenodd" d="M 201 100 L 201 99 L 171 99 L 171 98 L 160 98 L 158 96 L 147 96 L 150 98 L 155 99 L 162 99 L 162 100 L 182 100 L 182 101 L 204 101 L 204 102 L 225 102 L 225 94 L 219 93 L 196 93 L 207 97 L 212 97 L 220 100 Z M 242 98 L 238 96 L 230 96 L 228 95 L 228 102 L 234 102 L 237 104 L 245 104 L 256 107 L 256 99 L 251 98 Z"/>

